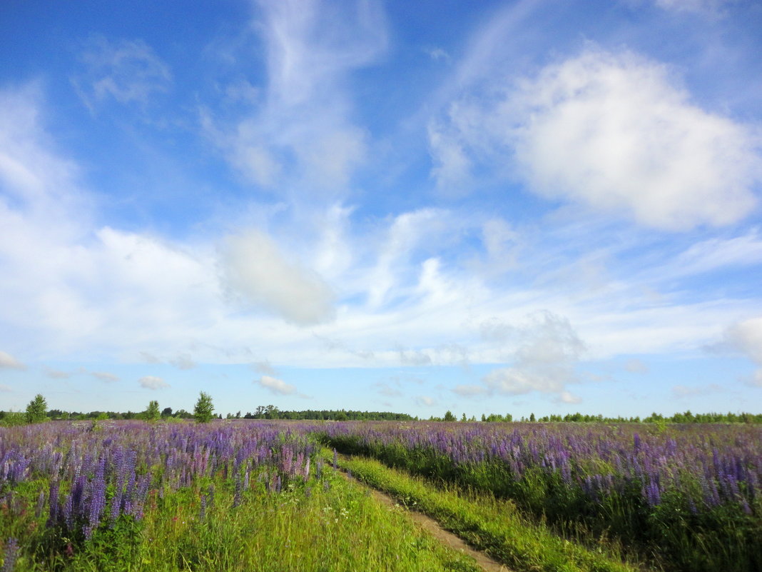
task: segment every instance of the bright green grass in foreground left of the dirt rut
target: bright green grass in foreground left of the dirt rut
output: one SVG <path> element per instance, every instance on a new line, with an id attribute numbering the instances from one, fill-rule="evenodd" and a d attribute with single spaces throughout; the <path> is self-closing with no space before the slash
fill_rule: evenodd
<path id="1" fill-rule="evenodd" d="M 419 529 L 404 509 L 383 506 L 367 487 L 330 468 L 321 481 L 281 493 L 255 483 L 235 508 L 232 483 L 216 479 L 213 504 L 202 519 L 208 484 L 152 495 L 141 522 L 120 519 L 113 530 L 102 527 L 90 541 L 67 548 L 69 539 L 45 529 L 44 514 L 34 516 L 42 484 L 27 483 L 14 494 L 15 506 L 5 509 L 13 518 L 0 519 L 0 538 L 19 539 L 14 572 L 479 570 L 472 558 Z"/>

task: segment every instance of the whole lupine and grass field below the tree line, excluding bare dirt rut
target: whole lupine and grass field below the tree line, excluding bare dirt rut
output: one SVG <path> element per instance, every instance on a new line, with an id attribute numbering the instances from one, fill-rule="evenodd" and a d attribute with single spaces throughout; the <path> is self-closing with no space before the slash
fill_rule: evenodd
<path id="1" fill-rule="evenodd" d="M 409 507 L 511 570 L 752 572 L 760 437 L 743 425 L 0 428 L 2 570 L 482 569 Z"/>

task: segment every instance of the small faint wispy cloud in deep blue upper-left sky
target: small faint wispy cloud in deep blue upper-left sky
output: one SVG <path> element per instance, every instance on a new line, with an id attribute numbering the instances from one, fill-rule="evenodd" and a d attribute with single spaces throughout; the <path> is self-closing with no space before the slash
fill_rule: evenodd
<path id="1" fill-rule="evenodd" d="M 94 36 L 80 57 L 85 72 L 72 79 L 88 108 L 107 98 L 122 104 L 146 104 L 157 92 L 166 92 L 171 72 L 143 40 L 110 41 Z"/>

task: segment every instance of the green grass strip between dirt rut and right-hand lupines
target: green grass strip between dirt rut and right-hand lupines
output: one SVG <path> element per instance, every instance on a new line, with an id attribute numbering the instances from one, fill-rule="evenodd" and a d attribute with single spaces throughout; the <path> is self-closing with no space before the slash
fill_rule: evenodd
<path id="1" fill-rule="evenodd" d="M 325 460 L 333 462 L 328 449 Z M 388 468 L 369 458 L 337 459 L 338 466 L 364 483 L 395 497 L 411 509 L 426 513 L 469 544 L 485 551 L 517 572 L 635 572 L 629 564 L 608 554 L 560 538 L 543 525 L 529 522 L 510 501 L 486 496 L 468 498 L 441 490 L 418 477 Z"/>

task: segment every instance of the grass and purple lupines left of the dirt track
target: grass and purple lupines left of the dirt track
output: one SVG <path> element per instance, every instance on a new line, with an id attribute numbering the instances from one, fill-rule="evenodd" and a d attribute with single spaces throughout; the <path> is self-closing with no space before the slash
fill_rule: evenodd
<path id="1" fill-rule="evenodd" d="M 27 570 L 478 570 L 256 423 L 0 429 L 0 561 Z"/>

